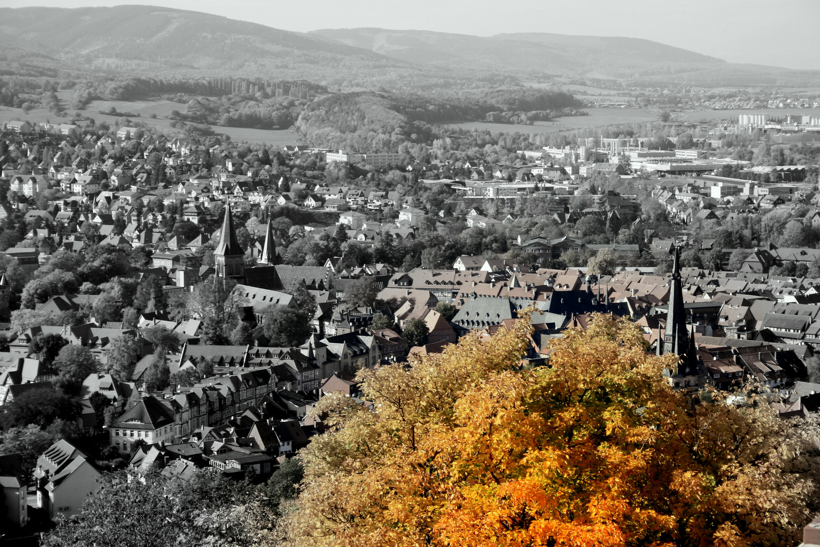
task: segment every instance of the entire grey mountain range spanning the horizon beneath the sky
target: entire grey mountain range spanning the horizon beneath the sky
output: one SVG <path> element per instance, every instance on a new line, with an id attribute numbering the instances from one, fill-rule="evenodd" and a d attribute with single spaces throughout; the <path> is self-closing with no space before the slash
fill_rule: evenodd
<path id="1" fill-rule="evenodd" d="M 649 84 L 820 84 L 820 71 L 736 65 L 645 39 L 376 28 L 297 33 L 140 5 L 0 8 L 0 47 L 6 52 L 0 57 L 4 74 L 235 75 L 310 80 L 330 89 L 435 89 L 454 81 L 469 88 L 471 82 L 503 84 L 506 75 Z M 34 53 L 27 58 L 21 50 Z"/>

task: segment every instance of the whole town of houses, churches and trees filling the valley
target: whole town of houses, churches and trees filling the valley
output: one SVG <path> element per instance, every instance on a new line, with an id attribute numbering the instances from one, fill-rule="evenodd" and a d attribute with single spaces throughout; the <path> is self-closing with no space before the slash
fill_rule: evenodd
<path id="1" fill-rule="evenodd" d="M 818 123 L 776 125 L 722 132 Z M 71 385 L 55 340 L 98 368 L 73 378 L 69 438 L 35 462 L 0 456 L 5 517 L 78 513 L 115 468 L 261 481 L 326 430 L 319 399 L 371 405 L 358 370 L 490 340 L 524 312 L 522 365 L 548 366 L 550 340 L 612 314 L 680 357 L 664 371 L 676 390 L 758 382 L 782 417 L 818 412 L 818 166 L 724 156 L 725 139 L 421 161 L 7 122 L 0 409 Z M 271 308 L 304 318 L 299 340 L 272 343 Z M 0 439 L 25 428 L 0 423 Z"/>

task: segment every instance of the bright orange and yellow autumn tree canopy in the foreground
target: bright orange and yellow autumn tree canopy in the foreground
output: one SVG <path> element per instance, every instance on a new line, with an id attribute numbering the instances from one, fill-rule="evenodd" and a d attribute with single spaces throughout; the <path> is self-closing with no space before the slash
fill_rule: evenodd
<path id="1" fill-rule="evenodd" d="M 362 370 L 320 400 L 289 545 L 791 545 L 818 511 L 814 421 L 668 385 L 676 356 L 596 315 L 520 367 L 530 326 Z"/>

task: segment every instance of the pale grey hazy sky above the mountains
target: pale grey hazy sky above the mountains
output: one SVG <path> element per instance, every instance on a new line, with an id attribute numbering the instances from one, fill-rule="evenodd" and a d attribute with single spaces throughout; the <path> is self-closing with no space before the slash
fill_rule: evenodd
<path id="1" fill-rule="evenodd" d="M 104 0 L 0 0 L 0 7 L 116 6 Z M 139 2 L 128 2 L 139 3 Z M 628 36 L 730 62 L 820 69 L 820 0 L 150 0 L 279 29 L 362 26 L 490 36 Z M 2 24 L 2 23 L 0 23 Z"/>

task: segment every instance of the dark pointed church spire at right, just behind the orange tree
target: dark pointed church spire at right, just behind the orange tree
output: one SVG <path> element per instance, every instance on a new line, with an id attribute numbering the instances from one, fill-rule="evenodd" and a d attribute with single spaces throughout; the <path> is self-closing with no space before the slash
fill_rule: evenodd
<path id="1" fill-rule="evenodd" d="M 672 247 L 672 286 L 669 290 L 666 330 L 663 340 L 658 338 L 658 355 L 675 353 L 681 358 L 677 372 L 669 373 L 673 378 L 698 376 L 699 367 L 695 351 L 695 333 L 686 327 L 686 310 L 683 307 L 683 284 L 681 281 L 680 248 Z M 663 349 L 662 349 L 663 348 Z M 664 374 L 666 376 L 666 374 Z M 677 384 L 677 382 L 676 382 Z M 687 382 L 688 385 L 688 382 Z M 677 385 L 676 385 L 677 387 Z"/>

